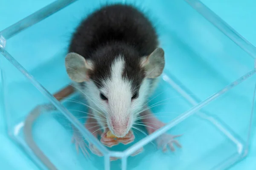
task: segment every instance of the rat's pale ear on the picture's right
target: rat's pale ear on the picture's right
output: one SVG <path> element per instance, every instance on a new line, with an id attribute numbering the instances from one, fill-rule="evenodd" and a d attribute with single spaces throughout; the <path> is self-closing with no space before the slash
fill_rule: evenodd
<path id="1" fill-rule="evenodd" d="M 154 79 L 163 73 L 165 65 L 163 48 L 156 48 L 149 56 L 141 60 L 141 66 L 145 68 L 146 77 Z"/>

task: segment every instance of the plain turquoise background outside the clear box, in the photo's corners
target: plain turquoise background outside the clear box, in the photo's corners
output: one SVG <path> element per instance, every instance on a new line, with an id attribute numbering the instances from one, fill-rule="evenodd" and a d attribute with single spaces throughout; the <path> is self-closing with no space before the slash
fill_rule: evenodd
<path id="1" fill-rule="evenodd" d="M 34 11 L 46 6 L 53 0 L 2 0 L 0 3 L 0 30 L 6 28 L 18 20 L 23 19 Z M 243 37 L 256 45 L 256 31 L 254 18 L 256 17 L 256 1 L 254 0 L 202 0 L 216 14 L 223 18 L 230 26 L 238 31 Z M 15 6 L 13 5 L 15 3 Z M 4 9 L 4 10 L 3 10 Z M 8 10 L 6 10 L 8 9 Z M 0 166 L 1 169 L 10 170 L 37 170 L 38 168 L 19 150 L 6 135 L 3 112 L 0 106 Z M 254 121 L 253 130 L 256 130 Z M 233 166 L 232 170 L 255 170 L 256 169 L 256 136 L 252 136 L 252 146 L 246 159 Z"/>

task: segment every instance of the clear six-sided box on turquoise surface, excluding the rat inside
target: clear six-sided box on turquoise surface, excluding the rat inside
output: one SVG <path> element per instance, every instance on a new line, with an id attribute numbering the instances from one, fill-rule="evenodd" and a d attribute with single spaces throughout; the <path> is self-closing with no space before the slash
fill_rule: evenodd
<path id="1" fill-rule="evenodd" d="M 79 22 L 106 3 L 145 9 L 160 34 L 166 67 L 151 96 L 151 110 L 166 126 L 146 135 L 134 130 L 128 145 L 105 147 L 84 127 L 86 107 L 72 94 L 53 94 L 70 83 L 64 57 Z M 33 139 L 59 170 L 221 170 L 243 159 L 250 146 L 256 89 L 256 48 L 198 0 L 58 0 L 0 32 L 0 94 L 9 136 L 47 169 L 24 134 L 29 114 L 40 105 Z M 169 97 L 171 96 L 171 97 Z M 72 127 L 103 153 L 76 152 Z M 139 127 L 142 131 L 143 127 Z M 155 139 L 183 134 L 182 148 L 163 153 Z M 143 153 L 131 156 L 140 147 Z M 119 160 L 110 161 L 110 157 Z"/>

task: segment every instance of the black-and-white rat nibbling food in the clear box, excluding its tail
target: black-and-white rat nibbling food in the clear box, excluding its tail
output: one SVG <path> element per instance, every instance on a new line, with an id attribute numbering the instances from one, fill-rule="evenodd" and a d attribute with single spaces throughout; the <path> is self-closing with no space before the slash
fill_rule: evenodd
<path id="1" fill-rule="evenodd" d="M 148 97 L 163 73 L 164 51 L 153 24 L 134 6 L 107 5 L 88 15 L 73 33 L 65 66 L 89 105 L 92 116 L 85 127 L 96 138 L 101 136 L 102 144 L 133 142 L 131 129 L 140 116 L 148 134 L 165 125 L 147 109 Z M 108 131 L 119 140 L 108 138 Z M 73 137 L 81 144 L 75 132 Z M 181 147 L 175 137 L 166 134 L 157 144 L 163 151 L 175 150 L 173 144 Z M 93 144 L 90 150 L 102 156 Z"/>

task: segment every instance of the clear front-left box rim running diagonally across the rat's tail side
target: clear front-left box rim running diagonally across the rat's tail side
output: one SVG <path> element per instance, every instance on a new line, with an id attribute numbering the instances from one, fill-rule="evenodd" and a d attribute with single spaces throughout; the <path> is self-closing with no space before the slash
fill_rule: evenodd
<path id="1" fill-rule="evenodd" d="M 18 63 L 5 49 L 0 47 L 0 53 L 3 55 L 3 57 L 5 57 L 18 71 L 21 72 L 21 74 L 23 74 L 28 80 L 29 82 L 31 82 L 37 89 L 38 91 L 41 92 L 41 94 L 43 94 L 45 97 L 47 97 L 47 99 L 55 106 L 55 108 L 57 108 L 59 111 L 61 111 L 61 113 L 63 113 L 63 115 L 73 124 L 75 125 L 75 127 L 81 132 L 81 134 L 83 136 L 87 136 L 87 138 L 90 139 L 91 142 L 93 142 L 93 144 L 104 154 L 104 155 L 108 155 L 110 153 L 110 151 L 103 146 L 103 144 L 101 144 L 99 142 L 98 139 L 96 139 L 90 132 L 89 130 L 87 130 L 80 122 L 79 120 L 76 119 L 75 116 L 73 116 L 68 110 L 67 108 L 65 108 L 63 105 L 61 105 L 60 102 L 58 102 L 57 99 L 55 99 L 54 96 L 52 96 L 52 94 L 49 93 L 49 91 L 47 91 L 39 82 L 37 82 L 37 80 L 34 79 L 34 77 L 32 77 L 32 75 L 30 75 L 28 73 L 28 71 L 25 70 L 25 68 L 23 68 L 20 63 Z"/>

